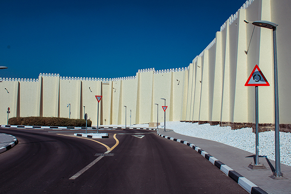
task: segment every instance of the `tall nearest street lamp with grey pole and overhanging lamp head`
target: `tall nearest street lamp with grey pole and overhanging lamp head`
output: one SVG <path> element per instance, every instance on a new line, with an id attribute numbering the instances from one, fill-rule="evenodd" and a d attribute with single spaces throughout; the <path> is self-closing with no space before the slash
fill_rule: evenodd
<path id="1" fill-rule="evenodd" d="M 251 23 L 255 26 L 268 28 L 273 30 L 273 57 L 274 57 L 274 98 L 275 98 L 275 172 L 274 177 L 282 177 L 281 167 L 280 167 L 280 136 L 279 136 L 279 97 L 278 97 L 278 71 L 277 71 L 277 43 L 276 43 L 276 27 L 277 24 L 270 21 L 258 20 L 254 22 L 248 22 L 244 20 L 245 23 Z"/>

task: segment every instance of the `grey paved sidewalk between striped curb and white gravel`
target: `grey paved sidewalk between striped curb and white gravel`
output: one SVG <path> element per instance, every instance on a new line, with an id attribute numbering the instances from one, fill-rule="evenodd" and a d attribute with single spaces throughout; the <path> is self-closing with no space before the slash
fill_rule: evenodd
<path id="1" fill-rule="evenodd" d="M 251 162 L 254 164 L 253 153 L 211 140 L 181 135 L 175 133 L 172 129 L 166 129 L 166 132 L 163 132 L 163 129 L 160 129 L 158 133 L 164 136 L 187 141 L 190 144 L 198 146 L 200 149 L 204 150 L 220 162 L 223 162 L 268 194 L 291 194 L 291 166 L 281 164 L 281 172 L 283 173 L 283 177 L 288 179 L 273 179 L 269 177 L 273 175 L 273 173 L 265 158 L 259 157 L 259 162 L 260 164 L 264 164 L 267 169 L 252 170 L 248 168 L 248 165 Z M 199 153 L 200 152 L 201 150 Z M 201 153 L 201 155 L 203 155 L 203 153 Z M 206 157 L 207 156 L 205 156 L 205 158 Z M 275 161 L 270 160 L 270 162 L 275 167 Z"/>

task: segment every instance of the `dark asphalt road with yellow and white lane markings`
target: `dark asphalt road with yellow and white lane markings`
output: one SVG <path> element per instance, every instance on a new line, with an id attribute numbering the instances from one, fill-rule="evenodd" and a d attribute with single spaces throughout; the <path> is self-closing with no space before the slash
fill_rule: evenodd
<path id="1" fill-rule="evenodd" d="M 0 154 L 0 194 L 247 193 L 191 147 L 151 130 L 107 130 L 108 139 L 72 136 L 80 130 L 0 132 L 19 141 Z"/>

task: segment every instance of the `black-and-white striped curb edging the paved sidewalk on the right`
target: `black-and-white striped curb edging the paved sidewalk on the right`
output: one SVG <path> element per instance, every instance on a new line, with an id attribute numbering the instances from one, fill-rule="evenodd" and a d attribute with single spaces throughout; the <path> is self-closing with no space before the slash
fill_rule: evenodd
<path id="1" fill-rule="evenodd" d="M 261 188 L 259 188 L 257 185 L 255 185 L 254 183 L 252 183 L 248 179 L 244 178 L 242 175 L 240 175 L 239 173 L 237 173 L 236 171 L 234 171 L 232 168 L 228 167 L 223 162 L 220 162 L 219 160 L 217 160 L 216 158 L 214 158 L 213 156 L 211 156 L 209 153 L 207 153 L 206 151 L 204 151 L 200 147 L 195 146 L 194 144 L 191 144 L 191 143 L 189 143 L 187 141 L 183 141 L 183 140 L 180 140 L 180 139 L 176 139 L 174 137 L 165 136 L 165 135 L 163 135 L 161 133 L 157 133 L 157 134 L 159 136 L 163 137 L 163 138 L 166 138 L 166 139 L 169 139 L 169 140 L 172 140 L 172 141 L 175 141 L 175 142 L 180 142 L 182 144 L 185 144 L 187 146 L 192 147 L 193 149 L 195 149 L 195 151 L 197 151 L 199 154 L 201 154 L 209 162 L 211 162 L 216 167 L 218 167 L 228 177 L 230 177 L 234 181 L 236 181 L 236 183 L 238 183 L 248 193 L 250 193 L 250 194 L 267 194 L 264 190 L 262 190 Z"/>

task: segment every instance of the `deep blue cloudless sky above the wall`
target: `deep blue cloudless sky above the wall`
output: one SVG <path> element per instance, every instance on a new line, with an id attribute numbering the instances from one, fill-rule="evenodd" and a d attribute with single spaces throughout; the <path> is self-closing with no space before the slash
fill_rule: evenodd
<path id="1" fill-rule="evenodd" d="M 245 0 L 0 0 L 1 78 L 188 66 Z"/>

